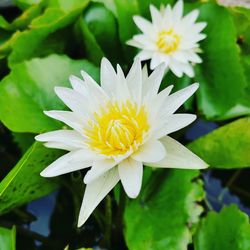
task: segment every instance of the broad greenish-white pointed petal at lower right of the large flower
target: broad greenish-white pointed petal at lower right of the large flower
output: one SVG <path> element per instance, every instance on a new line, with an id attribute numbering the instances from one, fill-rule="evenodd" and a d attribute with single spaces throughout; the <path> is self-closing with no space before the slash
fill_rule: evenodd
<path id="1" fill-rule="evenodd" d="M 154 163 L 145 163 L 147 166 L 159 168 L 183 168 L 183 169 L 203 169 L 208 165 L 189 149 L 176 140 L 165 136 L 161 142 L 166 148 L 167 156 Z"/>

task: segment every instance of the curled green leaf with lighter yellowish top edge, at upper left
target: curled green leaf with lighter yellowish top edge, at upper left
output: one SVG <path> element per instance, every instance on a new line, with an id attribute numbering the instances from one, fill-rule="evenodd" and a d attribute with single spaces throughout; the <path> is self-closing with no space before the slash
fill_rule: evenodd
<path id="1" fill-rule="evenodd" d="M 12 66 L 33 57 L 64 52 L 67 44 L 72 45 L 72 28 L 68 26 L 81 14 L 87 3 L 88 1 L 85 0 L 79 8 L 67 12 L 59 7 L 46 9 L 43 15 L 31 22 L 28 30 L 16 34 L 11 43 L 9 65 Z"/>

